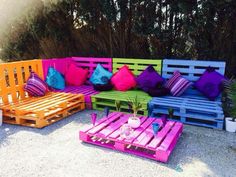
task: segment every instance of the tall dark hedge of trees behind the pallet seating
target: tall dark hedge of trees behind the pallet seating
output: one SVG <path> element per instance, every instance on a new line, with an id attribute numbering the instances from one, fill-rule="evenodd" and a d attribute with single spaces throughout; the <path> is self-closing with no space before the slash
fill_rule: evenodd
<path id="1" fill-rule="evenodd" d="M 1 58 L 224 59 L 235 70 L 235 0 L 34 1 L 9 21 Z"/>

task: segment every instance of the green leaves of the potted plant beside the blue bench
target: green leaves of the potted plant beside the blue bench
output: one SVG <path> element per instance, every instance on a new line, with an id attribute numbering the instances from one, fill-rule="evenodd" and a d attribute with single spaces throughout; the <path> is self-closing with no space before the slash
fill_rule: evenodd
<path id="1" fill-rule="evenodd" d="M 225 110 L 233 118 L 233 121 L 236 121 L 236 80 L 225 81 L 224 88 L 227 94 Z"/>

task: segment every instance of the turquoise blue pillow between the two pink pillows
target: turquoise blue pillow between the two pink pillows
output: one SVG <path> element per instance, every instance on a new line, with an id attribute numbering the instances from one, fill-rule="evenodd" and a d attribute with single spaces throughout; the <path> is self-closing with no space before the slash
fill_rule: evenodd
<path id="1" fill-rule="evenodd" d="M 107 84 L 112 76 L 112 73 L 102 67 L 102 65 L 98 64 L 96 69 L 94 70 L 92 76 L 89 81 L 93 84 Z"/>

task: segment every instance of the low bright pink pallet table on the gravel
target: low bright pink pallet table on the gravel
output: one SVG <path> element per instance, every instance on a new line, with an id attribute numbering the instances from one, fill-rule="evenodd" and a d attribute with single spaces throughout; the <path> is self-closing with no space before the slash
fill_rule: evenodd
<path id="1" fill-rule="evenodd" d="M 171 152 L 183 131 L 183 124 L 167 121 L 164 127 L 154 136 L 152 123 L 162 126 L 161 119 L 141 116 L 141 125 L 132 133 L 132 137 L 120 137 L 120 127 L 127 123 L 130 114 L 113 112 L 89 125 L 79 132 L 83 142 L 118 150 L 153 160 L 167 162 Z"/>

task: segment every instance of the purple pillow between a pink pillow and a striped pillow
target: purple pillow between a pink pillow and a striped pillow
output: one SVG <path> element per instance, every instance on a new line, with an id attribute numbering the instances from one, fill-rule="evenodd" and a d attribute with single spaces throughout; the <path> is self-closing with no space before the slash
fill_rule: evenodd
<path id="1" fill-rule="evenodd" d="M 156 72 L 152 65 L 149 65 L 137 78 L 138 88 L 148 92 L 150 88 L 155 88 L 164 79 Z"/>

